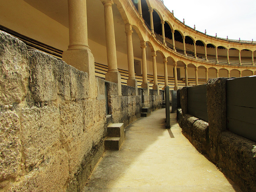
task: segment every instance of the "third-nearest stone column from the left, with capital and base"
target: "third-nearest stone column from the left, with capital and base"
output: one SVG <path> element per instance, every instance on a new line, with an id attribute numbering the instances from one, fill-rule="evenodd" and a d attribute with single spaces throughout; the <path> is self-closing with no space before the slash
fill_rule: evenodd
<path id="1" fill-rule="evenodd" d="M 134 72 L 134 56 L 133 56 L 133 47 L 132 47 L 132 25 L 125 25 L 126 40 L 127 40 L 127 58 L 128 58 L 128 73 L 129 77 L 127 80 L 127 85 L 137 88 L 137 80 L 135 79 Z"/>

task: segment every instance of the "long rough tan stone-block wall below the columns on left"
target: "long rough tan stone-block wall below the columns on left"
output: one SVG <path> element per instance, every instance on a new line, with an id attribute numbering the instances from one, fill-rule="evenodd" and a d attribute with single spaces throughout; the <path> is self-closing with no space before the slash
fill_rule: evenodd
<path id="1" fill-rule="evenodd" d="M 81 191 L 104 151 L 110 122 L 140 117 L 141 92 L 29 50 L 0 32 L 0 191 Z M 154 91 L 153 91 L 154 92 Z M 160 107 L 154 95 L 152 109 Z"/>

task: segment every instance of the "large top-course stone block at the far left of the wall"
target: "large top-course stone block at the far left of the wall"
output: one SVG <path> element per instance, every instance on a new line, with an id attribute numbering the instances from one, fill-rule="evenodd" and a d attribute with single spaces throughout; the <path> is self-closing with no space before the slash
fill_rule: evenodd
<path id="1" fill-rule="evenodd" d="M 0 104 L 20 103 L 26 97 L 29 56 L 26 45 L 0 32 Z"/>

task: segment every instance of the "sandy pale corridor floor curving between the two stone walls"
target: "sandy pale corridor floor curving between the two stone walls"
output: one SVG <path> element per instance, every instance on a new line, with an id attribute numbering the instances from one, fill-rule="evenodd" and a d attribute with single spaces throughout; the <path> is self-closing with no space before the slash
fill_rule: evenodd
<path id="1" fill-rule="evenodd" d="M 126 127 L 119 151 L 106 150 L 84 192 L 241 192 L 156 110 Z"/>

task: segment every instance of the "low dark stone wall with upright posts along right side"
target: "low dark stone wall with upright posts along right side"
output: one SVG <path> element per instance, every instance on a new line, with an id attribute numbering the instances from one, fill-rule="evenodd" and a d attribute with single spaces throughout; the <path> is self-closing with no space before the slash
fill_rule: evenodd
<path id="1" fill-rule="evenodd" d="M 177 120 L 184 136 L 242 191 L 256 191 L 256 142 L 226 129 L 226 79 L 208 80 L 209 122 L 187 114 L 187 87 L 180 90 L 181 108 L 177 110 Z"/>

